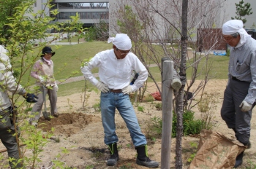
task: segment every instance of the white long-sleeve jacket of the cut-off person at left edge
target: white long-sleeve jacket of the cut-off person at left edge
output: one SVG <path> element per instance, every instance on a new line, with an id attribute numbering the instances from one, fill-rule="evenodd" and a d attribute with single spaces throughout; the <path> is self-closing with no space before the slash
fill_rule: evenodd
<path id="1" fill-rule="evenodd" d="M 0 45 L 0 111 L 3 111 L 12 105 L 8 91 L 11 93 L 18 93 L 19 95 L 26 93 L 23 87 L 18 85 L 15 81 L 11 68 L 12 66 L 10 65 L 9 57 L 7 56 L 7 50 Z"/>

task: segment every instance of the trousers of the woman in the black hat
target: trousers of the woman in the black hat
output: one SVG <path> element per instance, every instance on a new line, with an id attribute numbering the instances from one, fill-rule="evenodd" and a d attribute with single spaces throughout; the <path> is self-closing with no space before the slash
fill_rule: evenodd
<path id="1" fill-rule="evenodd" d="M 48 87 L 40 87 L 39 93 L 37 94 L 37 97 L 38 97 L 37 103 L 34 103 L 34 106 L 31 111 L 31 115 L 35 115 L 35 116 L 34 118 L 29 119 L 29 122 L 38 121 L 39 117 L 41 116 L 42 106 L 44 104 L 42 90 L 44 90 L 45 99 L 46 99 L 46 94 L 48 94 L 49 96 L 50 114 L 53 116 L 53 114 L 56 114 L 58 112 L 56 87 L 53 86 L 52 89 L 49 89 Z"/>

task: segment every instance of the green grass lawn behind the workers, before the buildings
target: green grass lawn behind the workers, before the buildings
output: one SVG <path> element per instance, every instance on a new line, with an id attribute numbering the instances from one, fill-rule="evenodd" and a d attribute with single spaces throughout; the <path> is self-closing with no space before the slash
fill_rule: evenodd
<path id="1" fill-rule="evenodd" d="M 74 45 L 62 45 L 56 47 L 55 45 L 51 46 L 53 51 L 56 52 L 56 55 L 53 56 L 52 60 L 54 63 L 54 73 L 56 80 L 67 79 L 69 76 L 81 76 L 80 66 L 84 59 L 90 59 L 94 57 L 97 52 L 101 52 L 103 50 L 109 50 L 112 48 L 112 44 L 108 44 L 107 42 L 84 42 L 80 44 Z M 38 52 L 35 49 L 35 52 Z M 209 61 L 212 63 L 212 71 L 210 72 L 211 79 L 227 79 L 227 66 L 228 66 L 229 57 L 227 56 L 216 56 L 211 55 Z M 189 66 L 189 63 L 187 64 Z M 200 64 L 198 70 L 200 75 L 197 79 L 203 79 L 205 74 L 206 67 L 206 58 L 200 60 Z M 95 68 L 93 73 L 96 73 L 98 70 Z M 150 68 L 151 74 L 157 80 L 157 82 L 161 82 L 161 73 L 158 67 Z M 29 76 L 30 72 L 27 72 L 25 76 L 23 76 L 23 81 L 28 82 L 31 81 L 32 84 L 34 82 L 34 78 Z M 187 79 L 190 79 L 192 74 L 192 67 L 187 68 Z M 148 82 L 153 82 L 151 78 L 148 78 Z M 72 93 L 80 93 L 85 88 L 85 81 L 80 82 L 72 82 L 68 84 L 59 84 L 59 92 L 58 95 L 70 95 Z M 95 90 L 96 88 L 91 85 L 90 82 L 87 82 L 87 91 Z"/>

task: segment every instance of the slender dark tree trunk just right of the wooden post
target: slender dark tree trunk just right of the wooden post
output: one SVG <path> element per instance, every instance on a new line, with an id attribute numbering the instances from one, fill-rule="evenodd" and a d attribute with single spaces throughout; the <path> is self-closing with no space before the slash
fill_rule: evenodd
<path id="1" fill-rule="evenodd" d="M 182 0 L 182 25 L 181 25 L 181 89 L 178 90 L 178 99 L 176 102 L 177 112 L 177 135 L 176 135 L 176 169 L 182 168 L 182 135 L 183 135 L 183 105 L 184 105 L 184 87 L 187 81 L 186 77 L 186 58 L 187 58 L 187 7 L 188 0 Z"/>

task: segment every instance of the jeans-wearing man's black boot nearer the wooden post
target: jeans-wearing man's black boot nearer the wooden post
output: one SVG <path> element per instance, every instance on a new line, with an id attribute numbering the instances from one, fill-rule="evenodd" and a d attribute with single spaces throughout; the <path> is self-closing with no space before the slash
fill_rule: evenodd
<path id="1" fill-rule="evenodd" d="M 135 147 L 137 150 L 137 160 L 136 163 L 138 165 L 143 165 L 148 168 L 157 168 L 159 166 L 159 163 L 156 161 L 152 161 L 148 158 L 148 146 L 143 145 L 143 146 L 137 146 Z"/>

